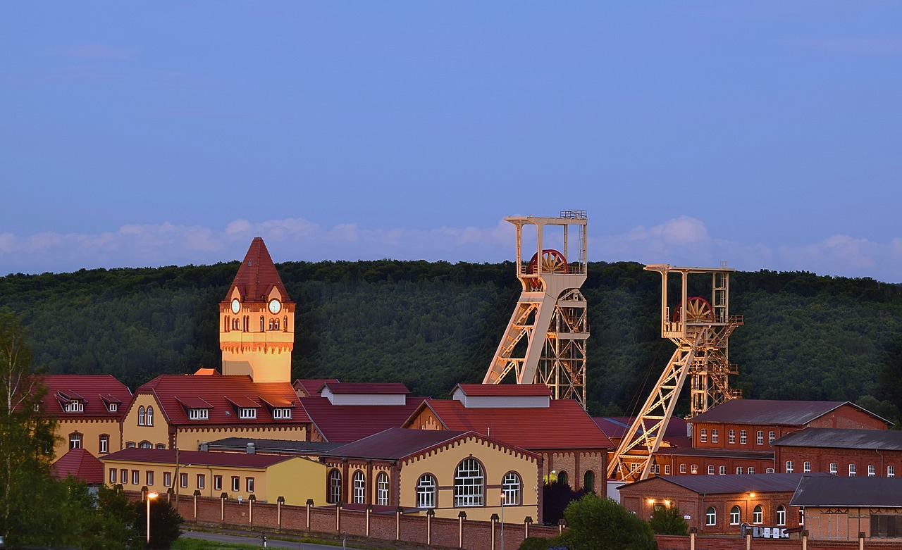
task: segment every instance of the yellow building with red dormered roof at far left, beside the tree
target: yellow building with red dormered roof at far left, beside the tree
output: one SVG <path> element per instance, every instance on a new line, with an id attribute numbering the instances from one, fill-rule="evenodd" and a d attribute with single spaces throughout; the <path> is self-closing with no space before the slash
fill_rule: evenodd
<path id="1" fill-rule="evenodd" d="M 41 383 L 47 394 L 39 412 L 57 419 L 57 459 L 69 449 L 100 456 L 123 448 L 120 418 L 132 392 L 122 382 L 106 374 L 46 374 Z"/>

